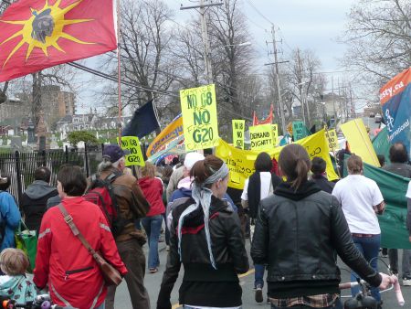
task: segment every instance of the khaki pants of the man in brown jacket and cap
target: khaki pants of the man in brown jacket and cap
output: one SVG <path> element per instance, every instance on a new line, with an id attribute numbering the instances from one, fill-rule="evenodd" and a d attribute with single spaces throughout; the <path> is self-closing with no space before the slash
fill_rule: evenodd
<path id="1" fill-rule="evenodd" d="M 125 240 L 117 242 L 117 248 L 121 260 L 129 271 L 124 279 L 127 282 L 133 309 L 149 309 L 150 298 L 144 287 L 145 256 L 142 252 L 138 240 Z M 116 287 L 110 286 L 107 289 L 106 309 L 114 308 L 114 296 Z"/>

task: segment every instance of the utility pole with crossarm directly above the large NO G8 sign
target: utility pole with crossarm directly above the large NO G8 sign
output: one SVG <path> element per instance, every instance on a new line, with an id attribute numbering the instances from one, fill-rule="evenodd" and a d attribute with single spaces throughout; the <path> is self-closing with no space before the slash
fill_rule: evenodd
<path id="1" fill-rule="evenodd" d="M 180 7 L 180 10 L 187 10 L 187 9 L 192 9 L 192 8 L 199 9 L 200 19 L 201 19 L 201 37 L 203 37 L 203 45 L 204 45 L 205 78 L 208 84 L 213 82 L 213 69 L 211 67 L 211 50 L 210 50 L 210 41 L 208 39 L 208 30 L 207 30 L 207 21 L 205 17 L 205 12 L 208 7 L 220 6 L 220 5 L 223 5 L 223 3 L 205 4 L 204 0 L 200 0 L 200 5 Z"/>

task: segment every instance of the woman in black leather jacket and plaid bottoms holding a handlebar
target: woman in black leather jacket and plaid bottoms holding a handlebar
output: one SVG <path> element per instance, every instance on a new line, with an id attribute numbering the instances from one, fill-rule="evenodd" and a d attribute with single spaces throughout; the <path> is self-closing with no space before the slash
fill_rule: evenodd
<path id="1" fill-rule="evenodd" d="M 255 263 L 269 265 L 272 308 L 334 308 L 341 281 L 335 252 L 371 285 L 385 288 L 394 282 L 374 272 L 364 260 L 337 199 L 307 180 L 310 167 L 303 147 L 284 147 L 279 168 L 287 181 L 263 199 L 258 209 L 251 257 Z"/>

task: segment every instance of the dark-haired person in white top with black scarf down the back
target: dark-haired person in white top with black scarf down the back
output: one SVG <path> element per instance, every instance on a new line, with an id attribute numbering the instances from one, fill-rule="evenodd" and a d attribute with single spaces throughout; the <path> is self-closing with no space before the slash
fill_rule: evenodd
<path id="1" fill-rule="evenodd" d="M 256 172 L 246 180 L 241 195 L 241 205 L 243 208 L 248 208 L 250 218 L 257 217 L 260 200 L 272 195 L 276 186 L 282 181 L 279 176 L 271 174 L 272 160 L 267 153 L 258 154 L 254 168 Z M 262 303 L 266 265 L 255 264 L 254 268 L 256 270 L 254 273 L 255 299 L 257 303 Z"/>

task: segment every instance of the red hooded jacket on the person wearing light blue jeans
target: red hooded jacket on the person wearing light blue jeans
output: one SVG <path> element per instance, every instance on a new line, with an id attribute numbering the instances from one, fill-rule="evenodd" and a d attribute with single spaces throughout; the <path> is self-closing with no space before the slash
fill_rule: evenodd
<path id="1" fill-rule="evenodd" d="M 150 210 L 146 217 L 162 215 L 165 212 L 163 204 L 163 183 L 155 177 L 142 177 L 138 180 L 142 194 L 150 203 Z"/>

